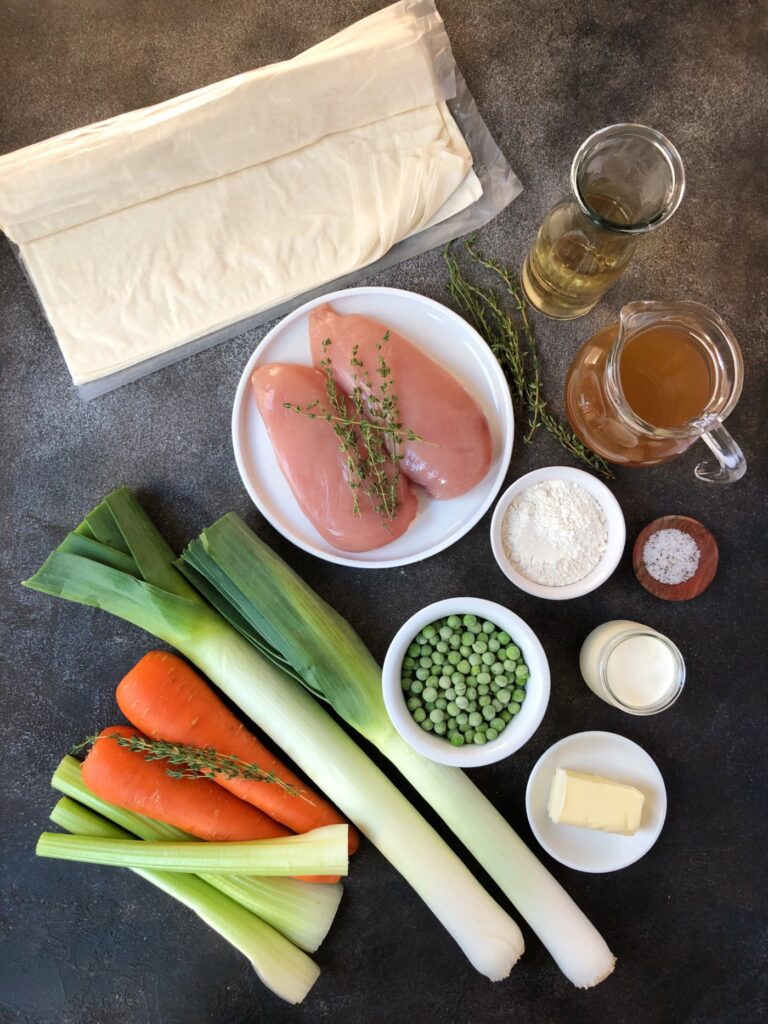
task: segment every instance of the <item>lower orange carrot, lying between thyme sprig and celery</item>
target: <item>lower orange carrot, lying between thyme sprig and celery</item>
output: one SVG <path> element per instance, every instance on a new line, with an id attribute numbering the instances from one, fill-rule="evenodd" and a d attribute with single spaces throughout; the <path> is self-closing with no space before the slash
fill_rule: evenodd
<path id="1" fill-rule="evenodd" d="M 290 836 L 290 829 L 205 778 L 171 778 L 162 761 L 121 746 L 108 736 L 136 729 L 103 729 L 83 763 L 83 781 L 102 800 L 165 821 L 199 839 L 226 842 Z"/>

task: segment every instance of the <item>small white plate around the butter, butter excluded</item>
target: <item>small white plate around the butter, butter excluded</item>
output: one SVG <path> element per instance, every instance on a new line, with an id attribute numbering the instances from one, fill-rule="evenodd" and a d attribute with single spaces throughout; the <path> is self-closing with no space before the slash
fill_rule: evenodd
<path id="1" fill-rule="evenodd" d="M 602 775 L 645 794 L 640 827 L 634 836 L 555 824 L 547 798 L 556 768 Z M 534 766 L 525 791 L 525 810 L 534 835 L 555 860 L 597 874 L 634 864 L 650 850 L 667 816 L 667 790 L 655 762 L 642 746 L 614 732 L 577 732 L 550 746 Z"/>

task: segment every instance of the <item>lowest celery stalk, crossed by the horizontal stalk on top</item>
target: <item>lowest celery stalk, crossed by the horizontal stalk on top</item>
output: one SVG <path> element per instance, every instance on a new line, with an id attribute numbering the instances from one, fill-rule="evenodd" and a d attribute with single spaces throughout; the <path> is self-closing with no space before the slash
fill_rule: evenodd
<path id="1" fill-rule="evenodd" d="M 100 838 L 103 842 L 128 837 L 118 825 L 67 797 L 53 808 L 51 819 L 75 836 Z M 197 913 L 251 962 L 267 988 L 288 1002 L 301 1002 L 317 980 L 319 969 L 306 953 L 202 879 L 145 869 L 136 873 Z"/>

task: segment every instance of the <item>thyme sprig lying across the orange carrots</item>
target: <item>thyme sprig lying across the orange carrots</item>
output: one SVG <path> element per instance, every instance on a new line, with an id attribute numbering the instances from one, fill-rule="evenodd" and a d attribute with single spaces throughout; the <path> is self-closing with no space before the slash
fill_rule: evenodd
<path id="1" fill-rule="evenodd" d="M 257 764 L 242 761 L 229 754 L 218 754 L 212 746 L 185 746 L 182 743 L 167 743 L 161 739 L 144 739 L 143 736 L 121 736 L 120 733 L 110 733 L 106 736 L 86 736 L 82 743 L 73 746 L 70 753 L 79 754 L 99 739 L 115 739 L 126 750 L 143 754 L 144 761 L 167 761 L 171 765 L 180 765 L 180 771 L 166 769 L 166 774 L 171 778 L 243 778 L 254 782 L 271 782 L 289 796 L 298 797 L 308 804 L 312 803 L 298 786 L 284 781 L 273 771 L 266 771 Z"/>

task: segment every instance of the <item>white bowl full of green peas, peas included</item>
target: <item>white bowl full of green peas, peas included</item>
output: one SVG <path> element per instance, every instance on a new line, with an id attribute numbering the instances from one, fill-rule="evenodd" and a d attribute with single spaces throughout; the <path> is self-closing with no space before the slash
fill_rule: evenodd
<path id="1" fill-rule="evenodd" d="M 493 764 L 530 739 L 547 710 L 549 664 L 530 627 L 494 601 L 427 605 L 384 659 L 384 703 L 425 757 L 459 768 Z"/>

